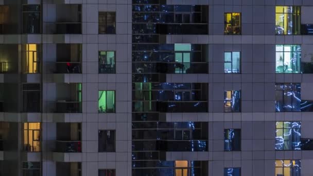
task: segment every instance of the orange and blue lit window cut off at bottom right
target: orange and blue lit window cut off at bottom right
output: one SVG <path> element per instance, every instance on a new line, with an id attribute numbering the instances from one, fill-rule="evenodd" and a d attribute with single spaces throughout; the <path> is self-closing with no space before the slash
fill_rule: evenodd
<path id="1" fill-rule="evenodd" d="M 276 160 L 275 176 L 300 176 L 301 160 Z"/>

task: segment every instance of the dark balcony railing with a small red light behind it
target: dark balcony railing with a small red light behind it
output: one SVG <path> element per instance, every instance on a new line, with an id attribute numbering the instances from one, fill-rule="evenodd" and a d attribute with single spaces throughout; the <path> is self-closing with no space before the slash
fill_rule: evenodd
<path id="1" fill-rule="evenodd" d="M 55 72 L 57 74 L 80 74 L 80 62 L 56 62 Z"/>

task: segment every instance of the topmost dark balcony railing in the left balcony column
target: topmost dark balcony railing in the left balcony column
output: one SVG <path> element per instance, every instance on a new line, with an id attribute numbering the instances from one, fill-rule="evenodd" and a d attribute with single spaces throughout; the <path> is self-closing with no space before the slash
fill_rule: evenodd
<path id="1" fill-rule="evenodd" d="M 57 22 L 57 34 L 81 34 L 80 22 Z"/>

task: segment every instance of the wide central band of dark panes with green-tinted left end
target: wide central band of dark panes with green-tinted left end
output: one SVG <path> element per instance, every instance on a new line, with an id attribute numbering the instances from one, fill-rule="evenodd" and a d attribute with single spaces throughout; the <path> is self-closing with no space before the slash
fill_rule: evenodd
<path id="1" fill-rule="evenodd" d="M 207 112 L 205 83 L 132 84 L 133 112 Z"/>

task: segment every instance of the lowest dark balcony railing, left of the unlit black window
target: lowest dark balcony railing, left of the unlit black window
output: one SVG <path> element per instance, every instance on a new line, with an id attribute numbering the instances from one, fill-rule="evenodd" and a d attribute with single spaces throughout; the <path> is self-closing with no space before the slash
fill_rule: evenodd
<path id="1" fill-rule="evenodd" d="M 81 142 L 74 140 L 57 140 L 56 152 L 69 153 L 69 152 L 81 152 Z"/>

